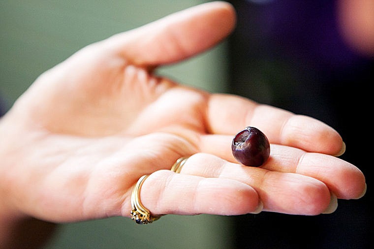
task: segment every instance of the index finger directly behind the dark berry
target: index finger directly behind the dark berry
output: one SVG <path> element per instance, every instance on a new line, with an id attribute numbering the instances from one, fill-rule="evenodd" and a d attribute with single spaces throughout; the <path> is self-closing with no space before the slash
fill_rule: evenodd
<path id="1" fill-rule="evenodd" d="M 329 125 L 239 96 L 212 94 L 206 119 L 213 134 L 234 135 L 246 126 L 255 126 L 270 143 L 330 155 L 341 155 L 345 149 L 342 137 Z"/>

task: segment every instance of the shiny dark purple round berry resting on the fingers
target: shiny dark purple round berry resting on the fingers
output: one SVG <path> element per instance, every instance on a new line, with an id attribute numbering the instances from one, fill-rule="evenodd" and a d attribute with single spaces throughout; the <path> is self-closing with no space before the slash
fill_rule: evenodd
<path id="1" fill-rule="evenodd" d="M 270 144 L 262 131 L 249 126 L 236 134 L 232 140 L 231 150 L 238 162 L 246 166 L 259 167 L 269 158 Z"/>

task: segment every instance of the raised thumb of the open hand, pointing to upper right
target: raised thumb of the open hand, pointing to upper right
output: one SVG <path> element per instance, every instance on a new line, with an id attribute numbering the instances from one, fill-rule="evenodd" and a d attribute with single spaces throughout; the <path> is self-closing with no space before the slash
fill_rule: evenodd
<path id="1" fill-rule="evenodd" d="M 221 41 L 235 24 L 227 2 L 200 4 L 106 40 L 121 57 L 140 66 L 177 62 Z"/>

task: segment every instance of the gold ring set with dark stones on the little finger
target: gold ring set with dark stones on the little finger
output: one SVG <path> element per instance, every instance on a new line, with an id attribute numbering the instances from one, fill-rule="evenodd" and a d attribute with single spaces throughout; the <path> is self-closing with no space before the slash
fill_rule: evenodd
<path id="1" fill-rule="evenodd" d="M 137 224 L 148 224 L 159 219 L 160 217 L 151 216 L 151 212 L 146 209 L 142 202 L 140 201 L 140 188 L 142 187 L 144 181 L 149 177 L 149 175 L 144 175 L 139 178 L 135 187 L 131 192 L 131 219 Z"/>

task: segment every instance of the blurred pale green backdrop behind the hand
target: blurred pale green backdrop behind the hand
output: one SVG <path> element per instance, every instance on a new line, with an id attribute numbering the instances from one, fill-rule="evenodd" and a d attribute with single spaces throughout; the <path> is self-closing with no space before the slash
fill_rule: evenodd
<path id="1" fill-rule="evenodd" d="M 0 95 L 10 107 L 38 75 L 82 47 L 203 2 L 1 0 Z M 207 91 L 226 92 L 226 59 L 223 42 L 159 73 Z M 227 249 L 233 244 L 231 222 L 228 217 L 199 215 L 165 216 L 150 225 L 136 225 L 129 218 L 61 224 L 45 248 Z"/>

